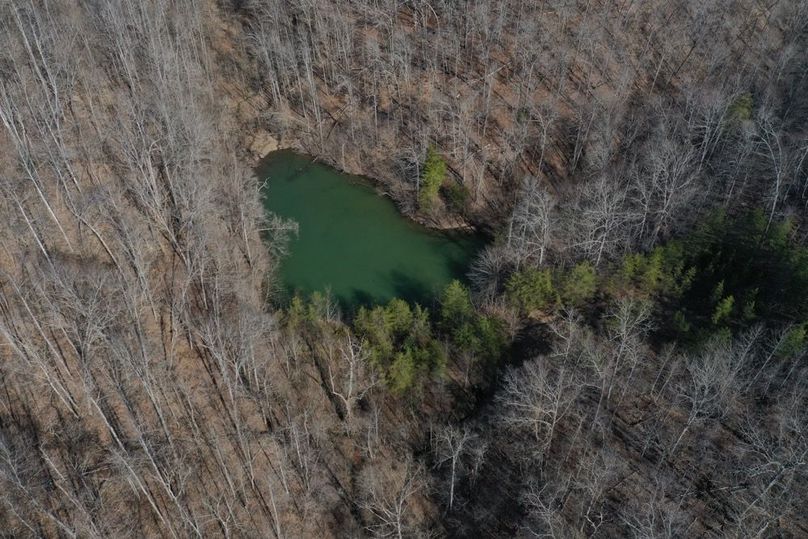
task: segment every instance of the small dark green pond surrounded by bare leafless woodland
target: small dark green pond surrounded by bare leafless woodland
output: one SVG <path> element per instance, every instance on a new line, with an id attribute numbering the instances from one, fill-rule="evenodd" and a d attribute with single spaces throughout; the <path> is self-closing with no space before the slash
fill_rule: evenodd
<path id="1" fill-rule="evenodd" d="M 266 209 L 298 223 L 280 267 L 286 295 L 330 291 L 348 309 L 394 297 L 429 304 L 465 278 L 482 245 L 413 223 L 362 178 L 292 151 L 269 154 L 259 177 Z"/>

